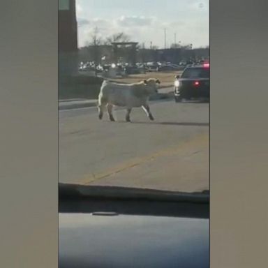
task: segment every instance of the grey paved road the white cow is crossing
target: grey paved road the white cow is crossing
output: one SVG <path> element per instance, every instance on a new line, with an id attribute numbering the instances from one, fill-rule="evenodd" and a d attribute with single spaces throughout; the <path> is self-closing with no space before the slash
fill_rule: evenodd
<path id="1" fill-rule="evenodd" d="M 59 112 L 59 182 L 169 191 L 209 189 L 209 104 L 150 103 L 124 121 L 98 119 L 96 107 Z"/>

